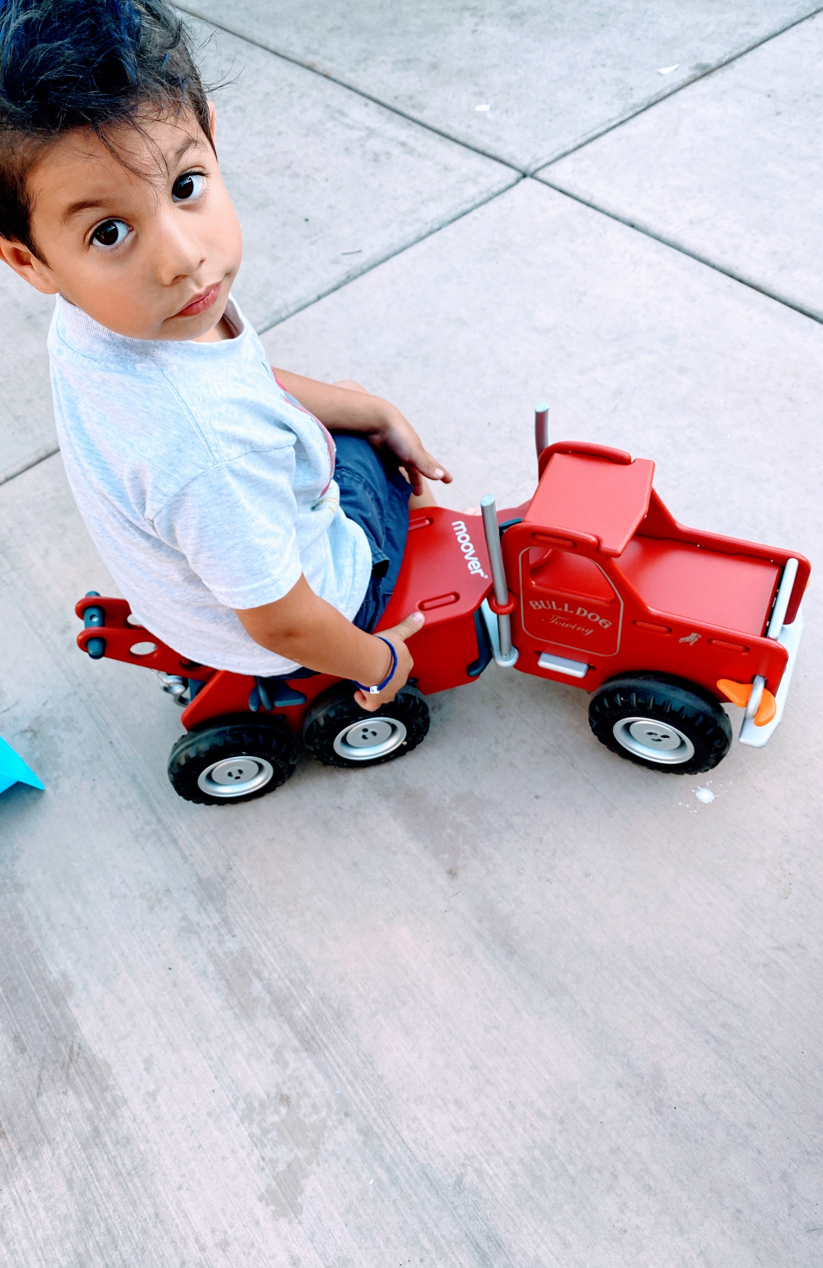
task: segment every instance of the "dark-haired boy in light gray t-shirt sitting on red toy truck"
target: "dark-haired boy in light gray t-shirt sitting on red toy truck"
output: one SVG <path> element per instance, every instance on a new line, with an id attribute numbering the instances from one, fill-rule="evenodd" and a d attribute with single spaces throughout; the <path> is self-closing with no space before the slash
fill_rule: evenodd
<path id="1" fill-rule="evenodd" d="M 216 668 L 393 699 L 422 614 L 369 631 L 410 496 L 451 477 L 387 401 L 271 370 L 230 295 L 214 108 L 165 0 L 0 4 L 0 254 L 57 297 L 66 473 L 147 629 Z"/>

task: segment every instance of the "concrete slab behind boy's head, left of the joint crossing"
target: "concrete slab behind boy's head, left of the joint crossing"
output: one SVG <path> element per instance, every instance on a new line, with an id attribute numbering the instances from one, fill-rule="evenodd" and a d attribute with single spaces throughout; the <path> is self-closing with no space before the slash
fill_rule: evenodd
<path id="1" fill-rule="evenodd" d="M 236 294 L 266 328 L 503 189 L 509 169 L 261 48 L 198 24 L 243 228 Z M 56 445 L 52 301 L 0 276 L 0 481 Z"/>

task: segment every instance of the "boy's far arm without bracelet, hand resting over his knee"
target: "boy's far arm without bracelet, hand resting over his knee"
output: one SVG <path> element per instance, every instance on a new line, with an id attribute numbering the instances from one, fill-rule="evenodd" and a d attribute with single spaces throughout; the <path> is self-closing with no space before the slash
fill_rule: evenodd
<path id="1" fill-rule="evenodd" d="M 451 482 L 449 472 L 424 449 L 411 424 L 383 397 L 304 379 L 289 370 L 275 373 L 285 391 L 327 427 L 360 432 L 375 449 L 391 450 L 405 468 L 413 493 L 422 492 L 424 476 L 444 484 Z"/>

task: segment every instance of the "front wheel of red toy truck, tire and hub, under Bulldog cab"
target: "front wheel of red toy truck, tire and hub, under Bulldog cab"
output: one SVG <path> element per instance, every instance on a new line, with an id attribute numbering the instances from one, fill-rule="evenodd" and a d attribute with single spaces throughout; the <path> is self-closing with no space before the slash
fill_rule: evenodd
<path id="1" fill-rule="evenodd" d="M 633 673 L 604 682 L 588 706 L 601 744 L 638 766 L 696 775 L 722 762 L 732 724 L 700 687 Z"/>

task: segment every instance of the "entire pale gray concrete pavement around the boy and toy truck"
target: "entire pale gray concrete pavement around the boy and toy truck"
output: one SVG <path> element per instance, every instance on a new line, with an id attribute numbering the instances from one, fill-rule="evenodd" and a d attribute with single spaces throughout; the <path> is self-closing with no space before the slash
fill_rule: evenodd
<path id="1" fill-rule="evenodd" d="M 529 495 L 548 396 L 814 566 L 814 11 L 200 5 L 273 360 L 391 396 L 450 505 Z M 0 1265 L 817 1268 L 814 578 L 781 728 L 708 776 L 492 666 L 405 761 L 193 806 L 153 676 L 74 645 L 113 583 L 14 283 L 0 733 L 46 791 L 0 798 Z"/>

